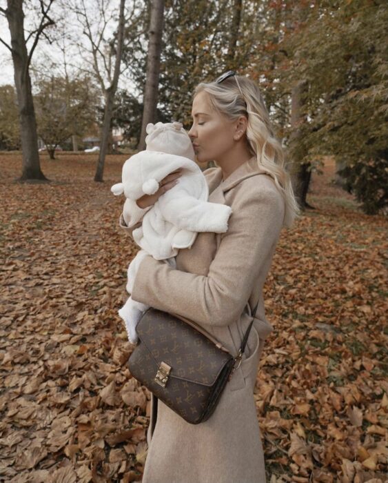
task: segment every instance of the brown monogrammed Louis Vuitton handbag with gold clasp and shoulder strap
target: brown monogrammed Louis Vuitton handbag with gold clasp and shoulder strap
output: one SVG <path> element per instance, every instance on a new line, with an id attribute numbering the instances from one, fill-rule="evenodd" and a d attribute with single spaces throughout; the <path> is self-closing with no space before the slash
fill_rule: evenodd
<path id="1" fill-rule="evenodd" d="M 127 366 L 136 380 L 185 421 L 204 422 L 241 364 L 252 323 L 253 319 L 234 357 L 196 322 L 150 307 L 136 325 L 139 340 Z"/>

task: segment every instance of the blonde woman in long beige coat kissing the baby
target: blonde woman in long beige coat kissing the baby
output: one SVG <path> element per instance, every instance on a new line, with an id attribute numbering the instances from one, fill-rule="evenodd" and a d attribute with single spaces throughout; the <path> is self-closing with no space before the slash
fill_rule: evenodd
<path id="1" fill-rule="evenodd" d="M 272 326 L 265 318 L 263 284 L 282 226 L 298 213 L 283 151 L 274 137 L 254 81 L 227 72 L 200 83 L 192 103 L 189 135 L 199 162 L 214 160 L 204 175 L 209 201 L 232 207 L 227 233 L 198 233 L 180 250 L 176 269 L 147 255 L 132 297 L 161 311 L 201 324 L 237 355 L 252 321 L 241 365 L 209 420 L 189 424 L 152 396 L 149 445 L 143 483 L 263 483 L 265 465 L 254 403 L 258 362 Z M 165 177 L 159 192 L 138 200 L 139 213 L 121 219 L 132 233 L 139 219 L 179 172 Z"/>

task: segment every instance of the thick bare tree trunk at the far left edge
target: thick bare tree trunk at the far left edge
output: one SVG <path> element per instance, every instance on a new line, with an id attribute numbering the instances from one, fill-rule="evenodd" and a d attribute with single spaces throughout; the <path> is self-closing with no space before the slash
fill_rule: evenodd
<path id="1" fill-rule="evenodd" d="M 14 82 L 19 108 L 21 150 L 25 179 L 47 180 L 39 162 L 37 120 L 32 100 L 31 79 L 28 71 L 28 52 L 24 37 L 23 0 L 8 0 L 6 17 L 10 28 Z"/>

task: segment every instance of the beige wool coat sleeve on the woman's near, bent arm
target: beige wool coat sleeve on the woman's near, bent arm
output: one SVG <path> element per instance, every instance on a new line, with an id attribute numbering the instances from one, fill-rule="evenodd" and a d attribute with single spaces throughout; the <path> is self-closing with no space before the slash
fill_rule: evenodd
<path id="1" fill-rule="evenodd" d="M 241 316 L 278 241 L 285 208 L 275 188 L 257 181 L 256 186 L 243 184 L 207 275 L 183 272 L 146 255 L 134 280 L 134 300 L 200 325 L 227 326 Z"/>

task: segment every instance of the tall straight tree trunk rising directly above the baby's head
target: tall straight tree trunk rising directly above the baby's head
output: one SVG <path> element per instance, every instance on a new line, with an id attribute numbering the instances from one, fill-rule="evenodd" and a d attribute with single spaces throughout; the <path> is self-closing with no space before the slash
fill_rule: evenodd
<path id="1" fill-rule="evenodd" d="M 147 55 L 147 72 L 145 75 L 143 120 L 141 135 L 137 149 L 145 149 L 147 124 L 154 122 L 158 105 L 159 72 L 161 67 L 161 49 L 163 34 L 164 0 L 153 0 L 150 15 L 150 30 Z"/>

